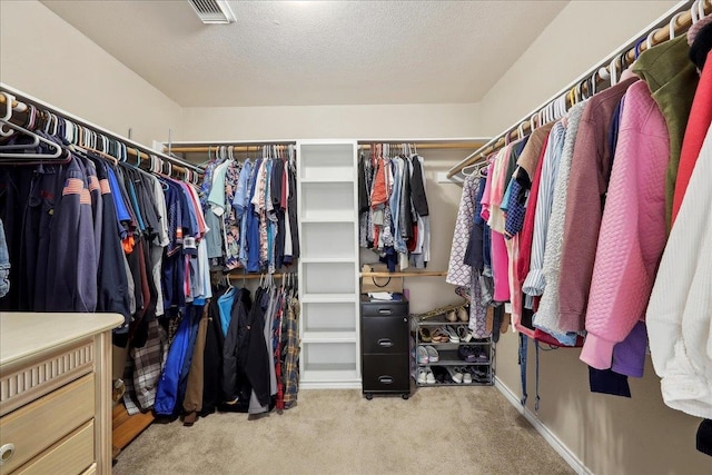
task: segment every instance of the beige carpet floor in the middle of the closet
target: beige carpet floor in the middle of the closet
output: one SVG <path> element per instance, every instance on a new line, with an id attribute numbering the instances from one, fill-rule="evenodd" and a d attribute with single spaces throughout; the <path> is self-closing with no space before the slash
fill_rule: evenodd
<path id="1" fill-rule="evenodd" d="M 434 473 L 574 471 L 494 387 L 421 388 L 408 400 L 301 390 L 283 414 L 154 424 L 113 467 L 115 475 Z"/>

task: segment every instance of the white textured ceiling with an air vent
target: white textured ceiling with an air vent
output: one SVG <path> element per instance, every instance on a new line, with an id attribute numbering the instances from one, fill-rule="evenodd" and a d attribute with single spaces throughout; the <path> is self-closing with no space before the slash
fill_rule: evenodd
<path id="1" fill-rule="evenodd" d="M 43 3 L 184 107 L 476 102 L 566 1 Z"/>

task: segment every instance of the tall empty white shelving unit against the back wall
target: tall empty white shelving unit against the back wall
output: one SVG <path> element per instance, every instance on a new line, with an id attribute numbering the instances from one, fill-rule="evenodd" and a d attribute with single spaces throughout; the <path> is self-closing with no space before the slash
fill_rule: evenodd
<path id="1" fill-rule="evenodd" d="M 356 140 L 298 140 L 303 388 L 359 388 Z"/>

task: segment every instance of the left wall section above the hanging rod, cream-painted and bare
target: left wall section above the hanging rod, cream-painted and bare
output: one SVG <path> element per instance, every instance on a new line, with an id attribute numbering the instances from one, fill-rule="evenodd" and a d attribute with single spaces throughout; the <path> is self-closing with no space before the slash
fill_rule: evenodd
<path id="1" fill-rule="evenodd" d="M 150 145 L 180 138 L 180 107 L 37 0 L 0 1 L 0 81 Z"/>

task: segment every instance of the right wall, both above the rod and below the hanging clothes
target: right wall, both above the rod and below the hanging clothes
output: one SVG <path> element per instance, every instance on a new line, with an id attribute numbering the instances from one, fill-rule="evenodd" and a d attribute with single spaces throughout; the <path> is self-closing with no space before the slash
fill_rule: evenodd
<path id="1" fill-rule="evenodd" d="M 656 20 L 674 1 L 572 1 L 481 102 L 483 132 L 495 135 L 548 99 Z M 590 40 L 586 40 L 590 38 Z M 518 337 L 497 344 L 497 378 L 521 395 Z M 528 403 L 534 413 L 535 354 L 528 352 Z M 580 349 L 542 352 L 537 418 L 595 474 L 710 474 L 696 452 L 699 418 L 668 408 L 650 357 L 632 398 L 589 390 Z"/>

